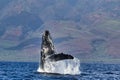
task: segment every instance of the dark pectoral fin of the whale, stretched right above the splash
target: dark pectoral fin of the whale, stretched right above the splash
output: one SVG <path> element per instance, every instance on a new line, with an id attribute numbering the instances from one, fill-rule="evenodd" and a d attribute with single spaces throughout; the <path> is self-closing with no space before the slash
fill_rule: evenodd
<path id="1" fill-rule="evenodd" d="M 60 54 L 51 55 L 49 59 L 51 61 L 59 61 L 59 60 L 65 60 L 65 59 L 74 59 L 74 57 L 68 54 L 60 53 Z"/>

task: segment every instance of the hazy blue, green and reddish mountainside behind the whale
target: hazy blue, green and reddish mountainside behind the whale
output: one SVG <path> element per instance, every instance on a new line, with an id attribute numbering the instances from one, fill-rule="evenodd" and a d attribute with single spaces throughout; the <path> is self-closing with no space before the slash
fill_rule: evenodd
<path id="1" fill-rule="evenodd" d="M 46 29 L 58 52 L 80 59 L 119 58 L 119 3 L 120 0 L 1 0 L 0 60 L 10 53 L 14 57 L 37 57 L 41 34 Z M 38 60 L 36 57 L 33 61 Z M 14 61 L 12 58 L 7 57 Z"/>

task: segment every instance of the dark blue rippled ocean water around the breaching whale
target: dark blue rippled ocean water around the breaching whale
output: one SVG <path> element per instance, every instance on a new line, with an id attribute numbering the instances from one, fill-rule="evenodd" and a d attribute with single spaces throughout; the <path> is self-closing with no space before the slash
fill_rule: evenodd
<path id="1" fill-rule="evenodd" d="M 38 73 L 38 63 L 0 62 L 0 80 L 120 80 L 119 64 L 81 64 L 80 75 Z"/>

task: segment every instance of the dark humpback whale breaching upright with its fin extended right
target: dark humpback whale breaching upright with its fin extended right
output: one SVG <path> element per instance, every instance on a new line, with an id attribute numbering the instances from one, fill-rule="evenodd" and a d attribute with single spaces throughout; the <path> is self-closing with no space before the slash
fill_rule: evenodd
<path id="1" fill-rule="evenodd" d="M 43 69 L 43 70 L 44 70 L 44 64 L 45 64 L 46 60 L 55 62 L 55 61 L 60 61 L 60 60 L 65 60 L 65 59 L 74 59 L 74 57 L 72 55 L 64 54 L 63 52 L 57 53 L 55 51 L 52 37 L 48 30 L 46 30 L 42 35 L 40 54 L 41 54 L 40 65 L 41 65 L 41 69 Z"/>

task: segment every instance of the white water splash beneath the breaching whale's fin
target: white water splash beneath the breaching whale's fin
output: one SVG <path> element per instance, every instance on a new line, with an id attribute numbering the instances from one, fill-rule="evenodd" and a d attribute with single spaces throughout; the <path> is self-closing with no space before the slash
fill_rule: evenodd
<path id="1" fill-rule="evenodd" d="M 77 58 L 61 60 L 57 62 L 46 61 L 44 70 L 40 67 L 38 72 L 59 73 L 59 74 L 80 74 L 80 61 Z"/>

